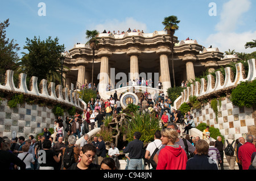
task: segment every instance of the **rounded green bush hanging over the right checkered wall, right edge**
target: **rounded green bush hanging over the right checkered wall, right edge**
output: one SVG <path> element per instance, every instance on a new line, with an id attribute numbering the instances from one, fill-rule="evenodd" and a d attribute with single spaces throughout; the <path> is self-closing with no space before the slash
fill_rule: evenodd
<path id="1" fill-rule="evenodd" d="M 256 80 L 241 82 L 232 90 L 231 101 L 238 107 L 252 107 L 256 103 Z"/>

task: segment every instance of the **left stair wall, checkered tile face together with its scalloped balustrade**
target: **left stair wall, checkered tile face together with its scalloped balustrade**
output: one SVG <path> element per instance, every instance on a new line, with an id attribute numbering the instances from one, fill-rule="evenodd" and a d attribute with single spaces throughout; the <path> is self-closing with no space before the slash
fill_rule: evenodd
<path id="1" fill-rule="evenodd" d="M 6 71 L 5 84 L 0 83 L 0 92 L 6 95 L 0 102 L 0 136 L 13 138 L 12 133 L 16 136 L 24 136 L 28 138 L 30 134 L 42 133 L 43 128 L 53 128 L 54 121 L 57 117 L 53 113 L 55 105 L 63 106 L 64 108 L 76 107 L 77 111 L 82 111 L 86 108 L 86 103 L 79 98 L 77 92 L 69 90 L 67 87 L 62 88 L 61 85 L 55 87 L 55 83 L 43 79 L 38 85 L 38 78 L 32 77 L 30 85 L 27 86 L 26 74 L 19 75 L 18 86 L 15 86 L 13 79 L 13 70 Z M 14 94 L 23 94 L 24 98 L 35 100 L 34 104 L 18 104 L 16 108 L 10 108 L 7 105 L 8 99 Z M 40 106 L 42 101 L 45 103 Z M 51 105 L 51 106 L 49 106 Z M 62 117 L 69 116 L 64 112 Z"/>

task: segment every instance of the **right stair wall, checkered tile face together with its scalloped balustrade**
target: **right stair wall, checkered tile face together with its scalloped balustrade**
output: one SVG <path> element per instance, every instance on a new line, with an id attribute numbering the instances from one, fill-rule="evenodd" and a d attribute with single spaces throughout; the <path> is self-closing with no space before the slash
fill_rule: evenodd
<path id="1" fill-rule="evenodd" d="M 255 59 L 247 61 L 249 64 L 248 74 L 241 63 L 236 64 L 236 77 L 229 67 L 225 68 L 225 76 L 220 71 L 216 71 L 216 80 L 212 75 L 208 75 L 208 80 L 204 78 L 201 82 L 195 82 L 195 85 L 187 87 L 181 92 L 181 96 L 174 102 L 174 108 L 179 109 L 180 105 L 189 102 L 189 96 L 197 96 L 197 99 L 221 99 L 221 107 L 218 106 L 218 117 L 210 103 L 203 105 L 200 109 L 192 110 L 192 115 L 196 125 L 206 123 L 209 126 L 220 129 L 225 138 L 228 134 L 234 134 L 235 138 L 244 136 L 245 134 L 253 134 L 256 136 L 256 107 L 246 108 L 233 106 L 230 101 L 230 94 L 234 88 L 245 81 L 253 81 L 256 78 Z M 221 98 L 223 93 L 227 94 L 226 98 Z"/>

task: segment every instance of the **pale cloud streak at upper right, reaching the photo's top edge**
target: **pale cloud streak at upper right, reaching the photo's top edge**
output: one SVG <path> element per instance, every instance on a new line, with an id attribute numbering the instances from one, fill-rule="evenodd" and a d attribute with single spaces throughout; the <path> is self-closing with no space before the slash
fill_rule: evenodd
<path id="1" fill-rule="evenodd" d="M 216 30 L 220 32 L 232 32 L 242 24 L 242 14 L 250 9 L 249 0 L 230 0 L 222 7 L 221 20 L 216 25 Z"/>

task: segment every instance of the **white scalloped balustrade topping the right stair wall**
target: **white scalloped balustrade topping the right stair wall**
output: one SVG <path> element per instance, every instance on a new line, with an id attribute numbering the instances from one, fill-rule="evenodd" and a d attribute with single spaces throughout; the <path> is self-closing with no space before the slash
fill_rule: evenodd
<path id="1" fill-rule="evenodd" d="M 208 75 L 206 81 L 201 78 L 201 82 L 195 82 L 195 85 L 187 87 L 187 90 L 181 92 L 181 96 L 177 98 L 174 102 L 174 108 L 177 109 L 184 102 L 188 102 L 189 96 L 209 96 L 215 94 L 217 91 L 224 91 L 227 89 L 232 89 L 237 86 L 240 82 L 253 81 L 256 78 L 256 61 L 255 59 L 247 60 L 249 64 L 248 75 L 245 74 L 245 68 L 241 63 L 236 64 L 236 77 L 230 69 L 230 67 L 225 68 L 225 78 L 220 71 L 216 71 L 216 80 L 213 75 Z"/>

